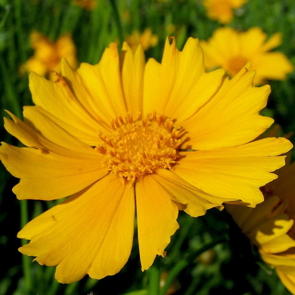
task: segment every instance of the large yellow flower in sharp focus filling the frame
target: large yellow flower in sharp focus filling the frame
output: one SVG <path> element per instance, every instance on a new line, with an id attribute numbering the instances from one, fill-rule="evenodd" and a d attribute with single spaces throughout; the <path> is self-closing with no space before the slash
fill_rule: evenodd
<path id="1" fill-rule="evenodd" d="M 142 270 L 178 229 L 178 210 L 191 216 L 226 201 L 254 207 L 260 186 L 275 179 L 292 145 L 284 138 L 250 142 L 273 119 L 260 116 L 269 86 L 255 88 L 254 72 L 229 80 L 205 73 L 198 40 L 182 52 L 167 38 L 162 63 L 145 63 L 124 43 L 106 48 L 97 65 L 48 81 L 30 74 L 35 106 L 24 122 L 11 114 L 5 128 L 27 147 L 2 143 L 0 158 L 20 178 L 18 199 L 70 196 L 29 222 L 20 248 L 42 265 L 57 265 L 63 283 L 86 273 L 117 273 L 132 248 L 135 200 Z"/>

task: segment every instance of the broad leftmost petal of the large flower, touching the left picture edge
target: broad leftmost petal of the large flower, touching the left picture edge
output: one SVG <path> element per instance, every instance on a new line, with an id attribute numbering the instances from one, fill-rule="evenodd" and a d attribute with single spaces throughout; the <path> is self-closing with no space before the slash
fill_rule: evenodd
<path id="1" fill-rule="evenodd" d="M 18 199 L 53 200 L 69 196 L 107 174 L 101 156 L 69 157 L 2 142 L 0 158 L 6 169 L 21 178 L 13 192 Z"/>

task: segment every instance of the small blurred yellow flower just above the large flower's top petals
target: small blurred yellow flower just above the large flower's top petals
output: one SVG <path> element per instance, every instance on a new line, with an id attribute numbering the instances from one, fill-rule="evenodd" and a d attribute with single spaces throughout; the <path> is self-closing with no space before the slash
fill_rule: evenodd
<path id="1" fill-rule="evenodd" d="M 132 34 L 127 37 L 126 41 L 132 50 L 135 50 L 139 44 L 142 45 L 143 50 L 148 50 L 150 47 L 155 47 L 158 44 L 158 36 L 152 34 L 152 29 L 147 28 L 142 34 L 134 30 Z"/>

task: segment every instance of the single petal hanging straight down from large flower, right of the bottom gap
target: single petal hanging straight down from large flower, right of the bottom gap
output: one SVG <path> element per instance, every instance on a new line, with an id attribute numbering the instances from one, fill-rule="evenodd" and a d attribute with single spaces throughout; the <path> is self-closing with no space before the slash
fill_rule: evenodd
<path id="1" fill-rule="evenodd" d="M 140 261 L 144 271 L 152 265 L 156 255 L 165 255 L 171 235 L 179 228 L 178 207 L 152 175 L 137 181 L 135 195 Z"/>

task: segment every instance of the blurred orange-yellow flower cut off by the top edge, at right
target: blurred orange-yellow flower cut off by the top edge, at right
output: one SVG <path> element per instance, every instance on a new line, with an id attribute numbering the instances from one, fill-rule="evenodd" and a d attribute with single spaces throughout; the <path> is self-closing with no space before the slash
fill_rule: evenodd
<path id="1" fill-rule="evenodd" d="M 232 21 L 232 9 L 240 8 L 247 0 L 203 0 L 207 10 L 207 17 L 218 20 L 222 24 Z"/>

